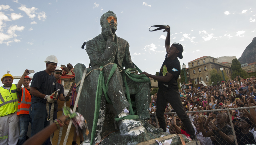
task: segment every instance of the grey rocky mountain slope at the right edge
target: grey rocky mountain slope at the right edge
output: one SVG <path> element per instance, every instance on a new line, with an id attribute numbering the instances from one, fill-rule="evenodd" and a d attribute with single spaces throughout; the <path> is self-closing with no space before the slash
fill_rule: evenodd
<path id="1" fill-rule="evenodd" d="M 256 62 L 256 37 L 252 39 L 252 42 L 245 48 L 242 56 L 238 58 L 241 64 Z"/>

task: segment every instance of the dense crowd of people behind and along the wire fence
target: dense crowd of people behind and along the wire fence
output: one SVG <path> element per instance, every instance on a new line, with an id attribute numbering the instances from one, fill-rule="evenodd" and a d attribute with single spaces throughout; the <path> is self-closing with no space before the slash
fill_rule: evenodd
<path id="1" fill-rule="evenodd" d="M 181 88 L 179 93 L 185 111 L 201 110 L 197 113 L 187 113 L 201 145 L 235 144 L 231 123 L 234 126 L 239 145 L 256 144 L 255 108 L 230 110 L 232 122 L 228 117 L 228 110 L 223 110 L 256 106 L 254 97 L 256 95 L 256 80 L 254 76 L 246 79 L 237 76 L 234 80 L 220 82 L 214 86 L 195 88 L 192 83 L 190 84 L 187 85 L 187 89 Z M 157 94 L 151 96 L 151 99 L 150 114 L 155 114 L 157 111 Z M 203 110 L 212 111 L 203 112 Z M 169 112 L 175 112 L 175 110 L 168 103 L 165 113 Z M 164 116 L 168 133 L 185 134 L 189 138 L 177 114 L 165 114 Z M 156 127 L 155 115 L 151 115 L 148 122 Z"/>

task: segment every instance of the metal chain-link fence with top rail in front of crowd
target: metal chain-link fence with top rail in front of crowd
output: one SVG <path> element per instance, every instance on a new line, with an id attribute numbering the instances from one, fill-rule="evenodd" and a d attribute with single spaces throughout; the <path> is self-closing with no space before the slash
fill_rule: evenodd
<path id="1" fill-rule="evenodd" d="M 217 112 L 217 111 L 227 111 L 227 114 L 228 114 L 228 117 L 229 117 L 229 121 L 230 121 L 230 126 L 231 126 L 231 128 L 232 128 L 232 133 L 233 133 L 233 136 L 234 136 L 234 142 L 233 143 L 235 143 L 236 145 L 240 145 L 241 144 L 241 141 L 240 141 L 240 143 L 238 143 L 238 138 L 237 138 L 237 135 L 240 137 L 239 138 L 239 140 L 241 140 L 241 136 L 244 136 L 244 138 L 242 138 L 243 140 L 244 140 L 244 145 L 246 145 L 246 141 L 248 141 L 248 137 L 246 137 L 246 135 L 244 135 L 244 134 L 238 134 L 238 133 L 236 133 L 235 132 L 235 128 L 234 128 L 234 125 L 233 125 L 233 123 L 232 123 L 232 115 L 230 114 L 230 110 L 243 110 L 243 109 L 254 109 L 254 108 L 256 108 L 256 106 L 253 106 L 253 107 L 240 107 L 240 108 L 226 108 L 226 109 L 215 109 L 215 110 L 200 110 L 200 111 L 187 111 L 186 113 L 204 113 L 204 112 Z M 169 112 L 169 113 L 164 113 L 164 114 L 175 114 L 175 112 Z M 155 116 L 155 119 L 156 119 L 156 126 L 157 126 L 157 128 L 159 128 L 159 126 L 158 126 L 158 119 L 157 119 L 157 117 L 156 117 L 156 112 L 154 112 L 154 114 L 150 114 L 150 115 L 154 115 Z M 247 115 L 246 115 L 247 116 Z M 248 117 L 247 117 L 248 118 Z M 250 119 L 250 121 L 251 121 L 251 123 L 252 123 L 252 125 L 251 125 L 251 127 L 250 127 L 250 130 L 252 130 L 252 129 L 254 129 L 254 127 L 255 127 L 255 133 L 249 133 L 248 135 L 253 135 L 253 139 L 254 139 L 254 141 L 250 141 L 250 142 L 253 142 L 254 144 L 256 144 L 256 124 L 254 124 L 253 123 L 253 121 L 252 121 L 252 118 L 250 117 L 250 118 L 248 118 L 248 119 Z M 238 127 L 236 127 L 236 128 L 238 128 Z M 248 136 L 247 135 L 247 136 Z M 253 144 L 253 143 L 250 143 L 250 144 Z M 213 143 L 213 144 L 218 144 L 218 143 Z M 243 145 L 242 144 L 242 145 Z"/>

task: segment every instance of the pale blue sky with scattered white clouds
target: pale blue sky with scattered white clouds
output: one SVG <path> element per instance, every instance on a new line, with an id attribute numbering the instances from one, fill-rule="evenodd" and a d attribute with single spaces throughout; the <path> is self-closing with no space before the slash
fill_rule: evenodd
<path id="1" fill-rule="evenodd" d="M 88 67 L 81 45 L 101 33 L 100 17 L 109 10 L 117 15 L 116 34 L 129 42 L 132 61 L 151 74 L 164 61 L 166 37 L 162 31 L 149 32 L 152 25 L 171 27 L 171 43 L 184 46 L 181 65 L 205 55 L 239 58 L 256 36 L 254 0 L 1 0 L 0 75 L 44 70 L 49 55 L 60 64 Z"/>

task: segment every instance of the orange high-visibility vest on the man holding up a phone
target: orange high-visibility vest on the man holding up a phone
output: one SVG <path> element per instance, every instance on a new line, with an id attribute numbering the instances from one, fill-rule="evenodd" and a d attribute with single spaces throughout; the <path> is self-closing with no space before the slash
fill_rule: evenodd
<path id="1" fill-rule="evenodd" d="M 31 105 L 31 95 L 26 88 L 22 88 L 21 102 L 18 102 L 17 115 L 29 114 L 28 108 Z"/>

